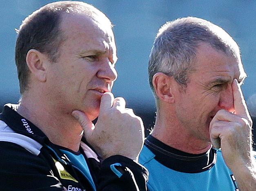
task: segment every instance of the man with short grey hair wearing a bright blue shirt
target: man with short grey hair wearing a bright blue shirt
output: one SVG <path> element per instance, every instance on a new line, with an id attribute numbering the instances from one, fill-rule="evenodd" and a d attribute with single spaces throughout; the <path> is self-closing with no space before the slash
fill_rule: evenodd
<path id="1" fill-rule="evenodd" d="M 186 17 L 159 29 L 149 57 L 156 123 L 139 160 L 150 191 L 256 190 L 245 77 L 222 28 Z"/>

